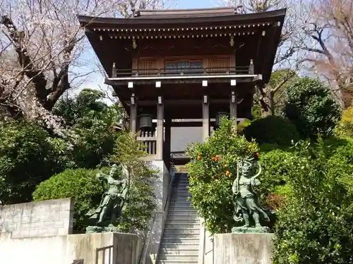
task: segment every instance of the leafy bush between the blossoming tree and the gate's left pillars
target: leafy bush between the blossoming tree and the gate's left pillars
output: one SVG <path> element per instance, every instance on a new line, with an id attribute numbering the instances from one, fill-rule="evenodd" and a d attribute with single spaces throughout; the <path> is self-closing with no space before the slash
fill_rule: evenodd
<path id="1" fill-rule="evenodd" d="M 66 168 L 96 168 L 112 154 L 123 111 L 102 99 L 102 92 L 83 89 L 76 97 L 56 103 L 54 113 L 63 118 L 68 130 L 65 139 L 52 139 L 52 144 Z"/>

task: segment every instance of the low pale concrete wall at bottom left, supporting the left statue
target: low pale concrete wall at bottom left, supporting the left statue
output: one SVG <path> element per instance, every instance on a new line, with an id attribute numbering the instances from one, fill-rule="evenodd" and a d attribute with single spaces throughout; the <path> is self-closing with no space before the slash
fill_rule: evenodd
<path id="1" fill-rule="evenodd" d="M 106 261 L 109 259 L 107 249 L 100 251 L 97 264 L 137 264 L 142 239 L 135 234 L 121 233 L 13 239 L 10 233 L 0 233 L 1 264 L 71 264 L 79 259 L 84 264 L 96 264 L 96 249 L 105 246 L 112 246 L 111 262 L 102 262 L 103 253 Z"/>

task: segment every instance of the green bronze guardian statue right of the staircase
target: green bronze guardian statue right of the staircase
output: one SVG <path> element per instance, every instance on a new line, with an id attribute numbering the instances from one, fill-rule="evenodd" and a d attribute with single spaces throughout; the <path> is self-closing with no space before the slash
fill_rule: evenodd
<path id="1" fill-rule="evenodd" d="M 234 220 L 244 222 L 241 227 L 233 227 L 232 232 L 269 232 L 268 227 L 263 227 L 260 223 L 262 217 L 265 222 L 270 222 L 268 214 L 260 204 L 260 195 L 256 187 L 261 182 L 258 176 L 261 174 L 261 165 L 257 162 L 258 153 L 253 158 L 243 158 L 237 163 L 237 178 L 233 182 L 233 204 Z M 258 168 L 258 172 L 256 172 Z M 255 227 L 251 227 L 251 218 L 255 222 Z"/>

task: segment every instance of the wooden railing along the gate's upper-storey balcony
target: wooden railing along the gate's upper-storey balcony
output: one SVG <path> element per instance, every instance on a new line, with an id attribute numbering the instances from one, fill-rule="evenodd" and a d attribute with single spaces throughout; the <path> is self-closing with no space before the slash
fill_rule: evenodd
<path id="1" fill-rule="evenodd" d="M 115 69 L 112 77 L 158 77 L 158 76 L 196 76 L 196 75 L 253 75 L 253 64 L 228 68 L 179 68 L 179 69 Z"/>

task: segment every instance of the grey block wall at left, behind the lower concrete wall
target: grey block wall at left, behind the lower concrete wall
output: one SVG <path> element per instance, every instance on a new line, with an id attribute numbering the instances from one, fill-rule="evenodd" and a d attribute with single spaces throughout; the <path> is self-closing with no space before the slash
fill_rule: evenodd
<path id="1" fill-rule="evenodd" d="M 0 234 L 13 238 L 71 234 L 73 201 L 59 199 L 0 206 Z"/>

